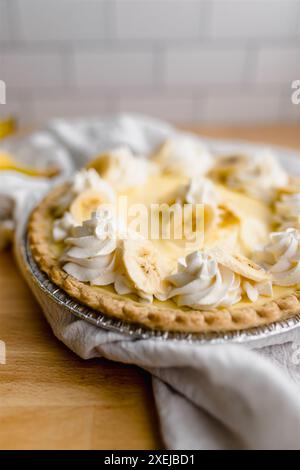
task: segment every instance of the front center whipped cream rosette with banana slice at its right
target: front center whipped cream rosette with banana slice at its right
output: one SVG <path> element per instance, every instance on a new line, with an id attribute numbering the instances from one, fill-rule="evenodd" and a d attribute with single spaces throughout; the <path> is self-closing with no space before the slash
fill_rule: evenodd
<path id="1" fill-rule="evenodd" d="M 269 276 L 244 257 L 219 248 L 195 251 L 178 262 L 177 272 L 167 278 L 171 287 L 166 298 L 177 305 L 200 310 L 229 307 L 246 295 L 252 302 L 272 295 Z"/>

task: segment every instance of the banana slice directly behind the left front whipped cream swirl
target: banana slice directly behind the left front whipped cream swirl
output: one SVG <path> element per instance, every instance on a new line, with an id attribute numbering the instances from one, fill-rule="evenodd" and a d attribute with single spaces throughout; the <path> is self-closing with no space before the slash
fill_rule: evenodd
<path id="1" fill-rule="evenodd" d="M 88 220 L 101 204 L 111 203 L 105 192 L 87 189 L 77 196 L 70 206 L 70 212 L 78 224 Z"/>

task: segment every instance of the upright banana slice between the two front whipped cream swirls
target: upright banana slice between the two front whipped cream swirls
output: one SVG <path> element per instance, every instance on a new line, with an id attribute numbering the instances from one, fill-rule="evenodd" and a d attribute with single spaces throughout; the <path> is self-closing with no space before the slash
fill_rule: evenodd
<path id="1" fill-rule="evenodd" d="M 126 276 L 141 297 L 161 291 L 159 253 L 149 240 L 124 240 L 122 260 Z"/>

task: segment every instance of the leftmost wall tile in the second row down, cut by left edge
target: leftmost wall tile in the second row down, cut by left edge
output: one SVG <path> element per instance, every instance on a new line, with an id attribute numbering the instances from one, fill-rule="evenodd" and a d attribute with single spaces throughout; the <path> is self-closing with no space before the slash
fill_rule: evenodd
<path id="1" fill-rule="evenodd" d="M 64 84 L 62 57 L 54 53 L 0 52 L 1 79 L 10 87 L 35 89 Z"/>

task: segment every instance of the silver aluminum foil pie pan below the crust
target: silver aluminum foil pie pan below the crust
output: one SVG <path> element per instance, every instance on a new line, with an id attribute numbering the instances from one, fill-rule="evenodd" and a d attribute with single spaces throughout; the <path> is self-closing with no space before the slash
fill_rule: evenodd
<path id="1" fill-rule="evenodd" d="M 186 341 L 197 344 L 224 344 L 224 343 L 249 343 L 251 346 L 262 347 L 270 344 L 280 344 L 288 340 L 291 332 L 300 326 L 300 312 L 284 320 L 276 321 L 245 330 L 209 333 L 176 333 L 160 330 L 151 330 L 138 324 L 124 322 L 114 317 L 104 315 L 93 310 L 70 297 L 64 290 L 56 286 L 35 262 L 27 239 L 27 230 L 23 236 L 20 253 L 26 273 L 31 280 L 57 305 L 85 320 L 92 325 L 108 331 L 120 333 L 133 339 L 156 339 L 163 341 Z"/>

